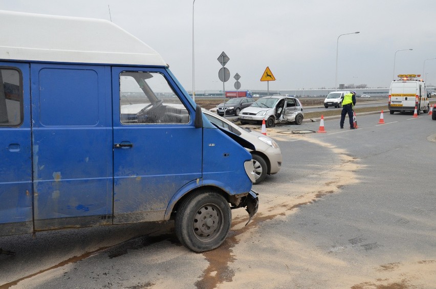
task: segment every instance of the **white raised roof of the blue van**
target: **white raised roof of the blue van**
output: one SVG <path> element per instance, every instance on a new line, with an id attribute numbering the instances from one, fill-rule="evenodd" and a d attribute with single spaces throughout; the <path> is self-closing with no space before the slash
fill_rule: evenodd
<path id="1" fill-rule="evenodd" d="M 103 19 L 0 10 L 0 35 L 0 59 L 166 65 L 155 50 Z"/>

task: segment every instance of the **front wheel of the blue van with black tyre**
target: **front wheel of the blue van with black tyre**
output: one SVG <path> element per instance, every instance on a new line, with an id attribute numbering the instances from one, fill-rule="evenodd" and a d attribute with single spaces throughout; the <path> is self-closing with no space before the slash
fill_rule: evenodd
<path id="1" fill-rule="evenodd" d="M 213 191 L 188 196 L 177 209 L 179 241 L 194 252 L 219 247 L 230 230 L 232 213 L 226 199 Z"/>

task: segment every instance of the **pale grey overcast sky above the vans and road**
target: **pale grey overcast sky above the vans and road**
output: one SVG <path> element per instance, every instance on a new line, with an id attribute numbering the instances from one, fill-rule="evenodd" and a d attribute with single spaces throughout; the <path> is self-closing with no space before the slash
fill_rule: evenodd
<path id="1" fill-rule="evenodd" d="M 189 91 L 192 6 L 192 0 L 0 0 L 0 10 L 112 18 L 160 53 Z M 195 91 L 222 90 L 223 51 L 230 58 L 226 90 L 236 73 L 241 90 L 267 90 L 260 81 L 267 66 L 276 79 L 270 90 L 332 88 L 337 47 L 338 85 L 388 87 L 394 58 L 395 75 L 423 74 L 425 63 L 427 83 L 436 84 L 436 59 L 426 60 L 436 58 L 435 23 L 434 0 L 195 0 Z"/>

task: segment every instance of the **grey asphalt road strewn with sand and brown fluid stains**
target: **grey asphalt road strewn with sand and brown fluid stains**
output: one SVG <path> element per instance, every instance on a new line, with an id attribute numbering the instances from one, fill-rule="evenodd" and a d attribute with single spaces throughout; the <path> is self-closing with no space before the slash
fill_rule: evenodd
<path id="1" fill-rule="evenodd" d="M 379 117 L 267 128 L 284 165 L 219 249 L 186 250 L 171 222 L 0 237 L 0 288 L 434 288 L 436 121 Z"/>

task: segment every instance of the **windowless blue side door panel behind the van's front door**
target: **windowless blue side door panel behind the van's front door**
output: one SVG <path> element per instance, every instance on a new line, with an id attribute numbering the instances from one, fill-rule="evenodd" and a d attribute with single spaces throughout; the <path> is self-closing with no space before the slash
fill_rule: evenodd
<path id="1" fill-rule="evenodd" d="M 36 230 L 111 224 L 106 66 L 31 64 Z"/>

